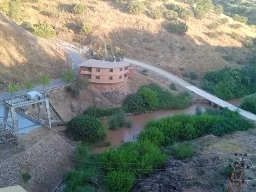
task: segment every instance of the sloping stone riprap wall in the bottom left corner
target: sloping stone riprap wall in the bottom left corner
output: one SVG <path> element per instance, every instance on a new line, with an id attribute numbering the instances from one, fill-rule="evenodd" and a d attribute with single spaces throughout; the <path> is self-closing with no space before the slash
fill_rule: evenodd
<path id="1" fill-rule="evenodd" d="M 51 132 L 28 150 L 0 162 L 0 188 L 21 185 L 28 192 L 51 192 L 71 168 L 74 148 Z M 31 179 L 24 182 L 22 174 Z"/>

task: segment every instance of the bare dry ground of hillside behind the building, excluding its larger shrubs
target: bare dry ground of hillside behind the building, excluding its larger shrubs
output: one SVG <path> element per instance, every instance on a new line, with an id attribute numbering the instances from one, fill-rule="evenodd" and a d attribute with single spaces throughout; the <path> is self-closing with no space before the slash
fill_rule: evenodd
<path id="1" fill-rule="evenodd" d="M 169 0 L 183 7 L 188 4 Z M 83 15 L 71 12 L 72 4 L 86 3 L 87 9 Z M 146 9 L 140 15 L 127 13 L 126 2 L 97 0 L 57 0 L 23 3 L 22 20 L 35 25 L 50 23 L 57 31 L 57 38 L 75 44 L 82 42 L 87 47 L 98 47 L 103 43 L 124 48 L 126 56 L 152 64 L 159 64 L 168 71 L 181 75 L 184 71 L 205 72 L 244 65 L 250 50 L 241 43 L 245 37 L 255 37 L 252 28 L 243 25 L 241 29 L 232 29 L 230 24 L 237 23 L 232 18 L 213 12 L 204 19 L 191 17 L 186 21 L 188 33 L 186 36 L 171 34 L 166 30 L 165 19 L 153 20 Z M 151 8 L 165 3 L 154 2 Z M 228 23 L 218 28 L 209 29 L 213 22 L 228 18 Z M 179 19 L 180 20 L 180 19 Z M 19 21 L 21 23 L 21 21 Z M 84 22 L 90 23 L 92 32 L 88 36 L 80 34 Z M 222 33 L 217 39 L 210 38 L 207 33 L 218 31 Z M 235 32 L 239 38 L 233 39 Z M 234 61 L 226 61 L 222 56 L 231 55 Z"/>

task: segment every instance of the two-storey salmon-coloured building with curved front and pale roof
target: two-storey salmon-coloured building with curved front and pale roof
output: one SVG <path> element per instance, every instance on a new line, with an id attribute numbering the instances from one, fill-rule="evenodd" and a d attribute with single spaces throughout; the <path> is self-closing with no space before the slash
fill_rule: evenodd
<path id="1" fill-rule="evenodd" d="M 91 83 L 119 84 L 126 83 L 128 76 L 134 75 L 134 70 L 129 73 L 127 61 L 110 62 L 105 60 L 89 59 L 80 63 L 79 77 L 86 77 Z"/>

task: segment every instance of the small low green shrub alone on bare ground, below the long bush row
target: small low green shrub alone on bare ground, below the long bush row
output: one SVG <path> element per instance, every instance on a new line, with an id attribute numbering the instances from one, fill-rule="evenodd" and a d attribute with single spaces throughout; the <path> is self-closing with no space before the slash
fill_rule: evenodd
<path id="1" fill-rule="evenodd" d="M 183 160 L 194 156 L 194 148 L 190 143 L 174 143 L 172 146 L 172 156 Z"/>

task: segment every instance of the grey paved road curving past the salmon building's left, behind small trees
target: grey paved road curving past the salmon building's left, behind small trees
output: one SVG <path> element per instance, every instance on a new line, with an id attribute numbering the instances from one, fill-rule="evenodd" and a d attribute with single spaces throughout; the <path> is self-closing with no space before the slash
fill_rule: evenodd
<path id="1" fill-rule="evenodd" d="M 67 52 L 69 53 L 69 55 L 71 56 L 73 63 L 74 63 L 74 68 L 77 68 L 77 65 L 80 64 L 81 62 L 83 62 L 83 60 L 81 59 L 81 57 L 78 54 L 78 51 L 76 51 L 75 49 L 71 48 L 71 47 L 66 47 Z M 63 85 L 66 82 L 62 79 L 52 79 L 51 83 L 47 86 L 45 86 L 45 89 L 51 89 L 54 88 L 56 86 L 59 85 Z M 30 91 L 42 91 L 43 90 L 43 86 L 42 85 L 37 85 L 36 87 L 34 87 L 32 90 Z M 16 91 L 14 93 L 12 93 L 12 95 L 20 95 L 20 94 L 25 94 L 27 92 L 27 90 L 20 90 L 20 91 Z M 9 95 L 9 92 L 0 92 L 0 101 L 3 100 L 3 98 L 7 98 Z"/>

